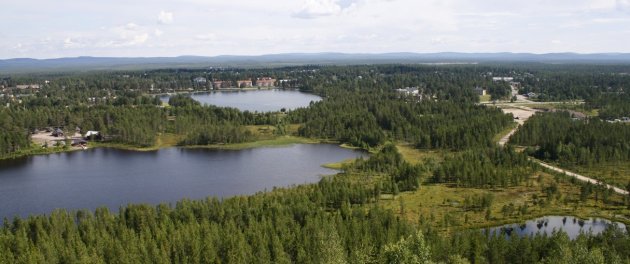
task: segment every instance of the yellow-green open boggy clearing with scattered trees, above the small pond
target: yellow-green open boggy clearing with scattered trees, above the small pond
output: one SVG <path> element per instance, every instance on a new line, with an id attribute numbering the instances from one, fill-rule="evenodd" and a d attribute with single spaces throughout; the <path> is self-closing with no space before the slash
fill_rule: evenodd
<path id="1" fill-rule="evenodd" d="M 407 161 L 416 164 L 427 160 L 440 161 L 445 155 L 406 145 L 398 145 L 398 149 Z M 595 195 L 581 202 L 580 186 L 575 181 L 568 176 L 536 172 L 527 182 L 508 188 L 463 188 L 454 184 L 425 183 L 413 192 L 384 195 L 379 203 L 412 223 L 433 226 L 443 232 L 498 226 L 545 215 L 603 217 L 630 223 L 630 210 L 624 205 L 623 196 L 613 194 L 606 204 Z M 548 196 L 544 188 L 554 184 L 558 191 Z M 493 197 L 489 218 L 487 210 L 465 206 L 467 198 L 485 195 Z M 504 210 L 504 207 L 513 210 Z"/>

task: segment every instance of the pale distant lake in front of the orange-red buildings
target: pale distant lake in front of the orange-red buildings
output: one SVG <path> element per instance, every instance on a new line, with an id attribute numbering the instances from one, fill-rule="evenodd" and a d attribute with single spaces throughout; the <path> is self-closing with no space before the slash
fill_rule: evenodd
<path id="1" fill-rule="evenodd" d="M 235 107 L 241 111 L 272 112 L 299 107 L 307 107 L 311 102 L 322 98 L 297 90 L 244 90 L 244 91 L 216 91 L 193 93 L 191 97 L 201 104 L 211 104 L 224 107 Z M 169 96 L 162 96 L 163 102 L 168 102 Z"/>

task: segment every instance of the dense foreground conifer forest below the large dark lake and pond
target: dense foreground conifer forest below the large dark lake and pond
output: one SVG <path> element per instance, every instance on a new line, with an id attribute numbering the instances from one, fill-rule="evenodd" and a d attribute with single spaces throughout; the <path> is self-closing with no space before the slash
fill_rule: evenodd
<path id="1" fill-rule="evenodd" d="M 341 181 L 341 182 L 336 182 Z M 625 263 L 630 237 L 422 231 L 343 177 L 226 200 L 5 219 L 2 263 Z M 342 196 L 340 196 L 342 195 Z M 346 196 L 346 197 L 344 197 Z M 334 202 L 339 201 L 339 202 Z"/>

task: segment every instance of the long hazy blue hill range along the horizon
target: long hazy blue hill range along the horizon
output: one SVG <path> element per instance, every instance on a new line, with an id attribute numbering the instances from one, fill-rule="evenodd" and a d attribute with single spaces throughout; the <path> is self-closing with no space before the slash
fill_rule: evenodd
<path id="1" fill-rule="evenodd" d="M 284 53 L 259 56 L 222 55 L 214 57 L 75 57 L 57 59 L 16 58 L 0 60 L 0 73 L 133 70 L 199 67 L 269 67 L 304 64 L 382 63 L 602 63 L 630 64 L 630 53 Z"/>

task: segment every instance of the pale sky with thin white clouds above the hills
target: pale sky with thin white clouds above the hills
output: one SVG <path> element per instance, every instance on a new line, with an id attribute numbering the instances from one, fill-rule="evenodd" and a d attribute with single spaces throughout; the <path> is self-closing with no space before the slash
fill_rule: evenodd
<path id="1" fill-rule="evenodd" d="M 630 52 L 630 0 L 2 0 L 0 59 Z"/>

